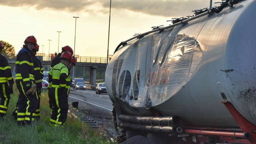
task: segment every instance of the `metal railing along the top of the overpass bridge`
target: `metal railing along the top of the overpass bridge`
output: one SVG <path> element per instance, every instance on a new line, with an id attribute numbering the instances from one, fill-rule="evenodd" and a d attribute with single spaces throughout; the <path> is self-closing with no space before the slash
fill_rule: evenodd
<path id="1" fill-rule="evenodd" d="M 50 54 L 46 55 L 44 53 L 37 53 L 36 57 L 40 59 L 41 61 L 51 61 L 55 55 Z M 83 63 L 107 63 L 107 58 L 106 57 L 87 57 L 87 56 L 79 56 L 75 55 L 77 62 L 83 62 Z M 108 61 L 111 59 L 112 56 L 108 59 Z M 15 58 L 16 59 L 16 56 Z"/>

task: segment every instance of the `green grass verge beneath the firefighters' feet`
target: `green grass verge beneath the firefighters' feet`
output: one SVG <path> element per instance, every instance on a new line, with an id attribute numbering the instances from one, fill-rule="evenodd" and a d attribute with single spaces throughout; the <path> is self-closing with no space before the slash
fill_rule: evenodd
<path id="1" fill-rule="evenodd" d="M 18 90 L 14 86 L 14 94 L 8 106 L 7 116 L 0 120 L 0 144 L 109 144 L 113 143 L 103 137 L 104 130 L 95 130 L 79 121 L 73 115 L 68 115 L 65 127 L 52 127 L 48 95 L 41 95 L 41 118 L 31 126 L 19 127 L 12 117 L 18 98 Z"/>

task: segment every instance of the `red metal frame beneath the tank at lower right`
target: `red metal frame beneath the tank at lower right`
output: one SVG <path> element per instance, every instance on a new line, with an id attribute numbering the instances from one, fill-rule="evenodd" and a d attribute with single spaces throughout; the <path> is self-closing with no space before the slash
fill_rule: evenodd
<path id="1" fill-rule="evenodd" d="M 222 101 L 222 103 L 229 110 L 235 121 L 238 123 L 241 131 L 234 130 L 220 130 L 218 128 L 184 128 L 184 134 L 194 134 L 196 139 L 187 137 L 187 144 L 201 144 L 207 142 L 208 137 L 198 137 L 199 135 L 216 136 L 215 143 L 238 143 L 238 144 L 256 144 L 256 126 L 247 121 L 240 113 L 234 108 L 231 102 Z M 246 139 L 247 138 L 247 139 Z M 194 140 L 194 142 L 193 142 Z M 196 142 L 195 142 L 196 140 Z"/>

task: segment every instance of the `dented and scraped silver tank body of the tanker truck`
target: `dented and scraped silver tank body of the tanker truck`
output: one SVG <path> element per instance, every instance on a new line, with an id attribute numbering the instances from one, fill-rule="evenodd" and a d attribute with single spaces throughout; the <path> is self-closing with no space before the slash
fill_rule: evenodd
<path id="1" fill-rule="evenodd" d="M 106 89 L 129 115 L 180 116 L 196 126 L 238 127 L 227 108 L 256 125 L 256 1 L 150 33 L 119 48 Z"/>

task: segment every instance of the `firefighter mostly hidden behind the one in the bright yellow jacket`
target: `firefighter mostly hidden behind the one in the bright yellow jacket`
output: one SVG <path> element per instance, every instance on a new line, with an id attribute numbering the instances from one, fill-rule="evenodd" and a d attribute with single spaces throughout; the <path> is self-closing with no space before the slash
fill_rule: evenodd
<path id="1" fill-rule="evenodd" d="M 51 66 L 50 66 L 50 70 L 55 66 L 55 65 L 57 65 L 57 64 L 59 64 L 60 63 L 60 61 L 61 61 L 61 59 L 60 59 L 60 57 L 61 57 L 61 55 L 62 55 L 62 53 L 64 53 L 65 51 L 68 51 L 68 52 L 70 52 L 71 53 L 71 55 L 73 55 L 73 49 L 70 47 L 70 46 L 64 46 L 63 48 L 62 48 L 62 51 L 61 51 L 61 53 L 59 53 L 58 55 L 56 55 L 53 59 L 52 59 L 52 62 L 51 62 Z M 48 76 L 48 78 L 49 78 L 49 86 L 48 86 L 48 97 L 49 97 L 49 107 L 50 107 L 50 109 L 52 109 L 52 104 L 51 104 L 51 99 L 50 99 L 50 91 L 51 91 L 51 82 L 50 82 L 50 78 L 52 77 L 52 75 L 49 73 L 49 76 Z"/>

